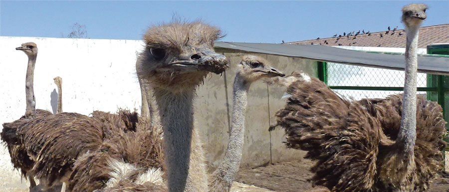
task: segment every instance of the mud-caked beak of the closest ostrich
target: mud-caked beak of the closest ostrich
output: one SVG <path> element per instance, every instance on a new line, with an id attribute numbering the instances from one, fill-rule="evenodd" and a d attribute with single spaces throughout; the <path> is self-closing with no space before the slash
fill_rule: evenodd
<path id="1" fill-rule="evenodd" d="M 209 48 L 197 49 L 191 57 L 182 57 L 172 61 L 166 68 L 178 69 L 180 72 L 207 71 L 216 74 L 223 73 L 227 68 L 227 59 Z"/>

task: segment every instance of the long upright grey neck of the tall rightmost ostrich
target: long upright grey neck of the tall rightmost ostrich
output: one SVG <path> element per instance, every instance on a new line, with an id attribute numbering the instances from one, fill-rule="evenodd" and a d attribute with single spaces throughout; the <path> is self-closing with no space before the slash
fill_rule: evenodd
<path id="1" fill-rule="evenodd" d="M 413 155 L 416 141 L 416 76 L 418 68 L 417 48 L 419 27 L 407 28 L 406 68 L 404 82 L 401 128 L 397 141 L 403 152 Z M 401 150 L 402 151 L 402 150 Z"/>

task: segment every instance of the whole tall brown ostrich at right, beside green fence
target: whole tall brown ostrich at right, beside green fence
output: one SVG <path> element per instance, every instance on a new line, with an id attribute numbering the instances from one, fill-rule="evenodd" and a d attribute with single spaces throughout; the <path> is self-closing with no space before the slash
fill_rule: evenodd
<path id="1" fill-rule="evenodd" d="M 441 168 L 446 131 L 441 106 L 423 97 L 417 102 L 416 96 L 418 31 L 426 8 L 410 4 L 402 9 L 408 33 L 404 95 L 350 101 L 301 73 L 275 82 L 288 86 L 289 96 L 276 113 L 277 125 L 285 129 L 287 147 L 318 160 L 312 167 L 314 185 L 332 191 L 429 187 Z"/>

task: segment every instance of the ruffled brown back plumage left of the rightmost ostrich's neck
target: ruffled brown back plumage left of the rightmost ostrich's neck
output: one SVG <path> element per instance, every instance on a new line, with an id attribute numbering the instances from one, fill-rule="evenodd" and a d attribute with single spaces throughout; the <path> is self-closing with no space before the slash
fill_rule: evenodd
<path id="1" fill-rule="evenodd" d="M 300 73 L 294 73 L 302 80 Z M 292 83 L 276 113 L 286 145 L 317 160 L 314 185 L 332 191 L 367 191 L 374 184 L 380 123 L 359 102 L 337 96 L 320 80 Z"/>

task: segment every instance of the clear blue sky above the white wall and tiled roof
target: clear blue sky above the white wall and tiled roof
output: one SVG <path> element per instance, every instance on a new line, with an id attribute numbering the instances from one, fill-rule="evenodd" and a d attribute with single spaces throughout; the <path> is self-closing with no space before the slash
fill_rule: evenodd
<path id="1" fill-rule="evenodd" d="M 174 13 L 219 26 L 224 41 L 280 43 L 399 26 L 401 8 L 429 5 L 423 26 L 449 23 L 449 1 L 0 1 L 0 35 L 62 37 L 78 22 L 93 39 L 141 39 Z"/>

